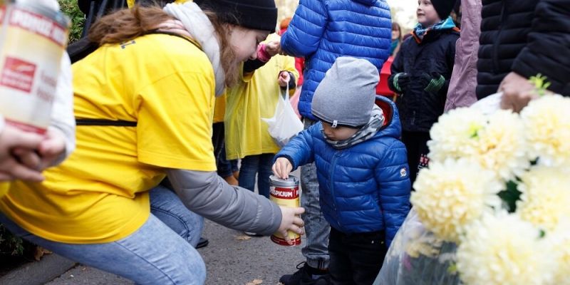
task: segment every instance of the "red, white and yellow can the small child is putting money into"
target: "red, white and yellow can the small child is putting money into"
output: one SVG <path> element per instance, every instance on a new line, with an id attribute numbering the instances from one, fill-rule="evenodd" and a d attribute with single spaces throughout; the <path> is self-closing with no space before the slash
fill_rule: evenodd
<path id="1" fill-rule="evenodd" d="M 299 179 L 289 175 L 288 179 L 280 179 L 274 175 L 269 177 L 271 183 L 269 188 L 269 199 L 279 206 L 283 207 L 299 207 Z M 301 236 L 296 232 L 287 232 L 289 239 L 293 240 L 293 244 L 288 244 L 283 235 L 276 232 L 271 235 L 271 241 L 276 244 L 291 246 L 301 244 Z"/>

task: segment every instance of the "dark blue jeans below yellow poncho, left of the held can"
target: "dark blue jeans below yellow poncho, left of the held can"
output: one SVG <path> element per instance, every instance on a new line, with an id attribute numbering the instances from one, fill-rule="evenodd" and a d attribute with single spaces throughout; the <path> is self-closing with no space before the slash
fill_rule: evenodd
<path id="1" fill-rule="evenodd" d="M 257 190 L 259 195 L 269 198 L 269 176 L 273 165 L 273 153 L 248 155 L 242 158 L 242 168 L 239 169 L 239 186 L 255 190 L 255 175 L 257 175 Z"/>

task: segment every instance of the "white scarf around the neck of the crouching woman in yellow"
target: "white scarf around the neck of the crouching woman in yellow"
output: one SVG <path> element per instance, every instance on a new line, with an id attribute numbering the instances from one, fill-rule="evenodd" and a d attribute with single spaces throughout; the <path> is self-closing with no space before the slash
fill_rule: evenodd
<path id="1" fill-rule="evenodd" d="M 202 46 L 202 51 L 206 53 L 214 68 L 216 96 L 222 95 L 224 93 L 226 76 L 224 75 L 224 68 L 222 68 L 222 61 L 220 61 L 217 33 L 214 31 L 212 22 L 209 21 L 206 14 L 194 2 L 167 4 L 164 11 L 180 20 L 192 38 Z"/>

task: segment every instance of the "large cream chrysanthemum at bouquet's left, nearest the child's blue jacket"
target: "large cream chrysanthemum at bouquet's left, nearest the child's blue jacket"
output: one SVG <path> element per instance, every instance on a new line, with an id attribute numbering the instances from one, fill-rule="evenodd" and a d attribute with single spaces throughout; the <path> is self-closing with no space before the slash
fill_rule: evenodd
<path id="1" fill-rule="evenodd" d="M 458 242 L 468 224 L 500 207 L 497 193 L 503 186 L 477 163 L 431 162 L 420 171 L 410 201 L 426 229 L 440 239 Z"/>

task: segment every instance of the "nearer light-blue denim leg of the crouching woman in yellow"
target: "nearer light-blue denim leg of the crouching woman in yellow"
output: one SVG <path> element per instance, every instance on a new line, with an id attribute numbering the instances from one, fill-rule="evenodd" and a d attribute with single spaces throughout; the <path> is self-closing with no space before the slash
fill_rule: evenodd
<path id="1" fill-rule="evenodd" d="M 136 284 L 204 284 L 206 279 L 206 266 L 196 249 L 152 214 L 130 236 L 103 244 L 48 241 L 26 232 L 1 213 L 0 223 L 56 254 Z"/>

